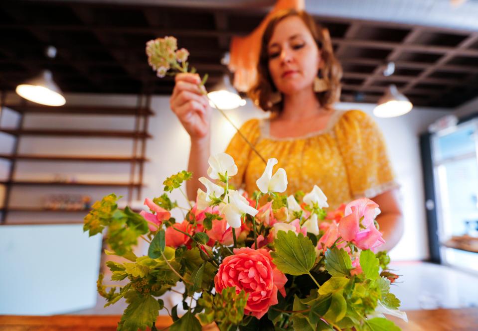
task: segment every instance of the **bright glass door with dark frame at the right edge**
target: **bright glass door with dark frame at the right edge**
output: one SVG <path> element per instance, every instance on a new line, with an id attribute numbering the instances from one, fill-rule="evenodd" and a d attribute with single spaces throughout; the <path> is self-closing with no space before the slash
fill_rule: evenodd
<path id="1" fill-rule="evenodd" d="M 474 272 L 478 272 L 477 134 L 478 121 L 472 120 L 431 139 L 441 259 Z"/>

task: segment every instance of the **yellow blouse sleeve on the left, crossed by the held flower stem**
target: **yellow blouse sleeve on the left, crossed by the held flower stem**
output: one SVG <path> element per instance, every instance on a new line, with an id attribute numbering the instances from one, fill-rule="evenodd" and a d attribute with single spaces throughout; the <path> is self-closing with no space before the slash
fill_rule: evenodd
<path id="1" fill-rule="evenodd" d="M 257 143 L 260 136 L 259 120 L 257 118 L 246 121 L 239 129 L 241 133 L 253 145 Z M 237 165 L 237 175 L 230 178 L 230 183 L 237 189 L 245 182 L 244 176 L 252 151 L 249 144 L 240 136 L 238 132 L 234 134 L 225 151 L 231 155 Z"/>

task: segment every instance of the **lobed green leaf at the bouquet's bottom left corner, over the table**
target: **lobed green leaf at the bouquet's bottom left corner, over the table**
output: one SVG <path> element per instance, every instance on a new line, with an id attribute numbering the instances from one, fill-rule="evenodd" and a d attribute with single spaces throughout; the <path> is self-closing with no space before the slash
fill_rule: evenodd
<path id="1" fill-rule="evenodd" d="M 129 304 L 125 309 L 118 331 L 137 331 L 151 328 L 159 314 L 159 303 L 151 295 L 140 295 L 136 291 L 129 291 L 125 295 Z"/>

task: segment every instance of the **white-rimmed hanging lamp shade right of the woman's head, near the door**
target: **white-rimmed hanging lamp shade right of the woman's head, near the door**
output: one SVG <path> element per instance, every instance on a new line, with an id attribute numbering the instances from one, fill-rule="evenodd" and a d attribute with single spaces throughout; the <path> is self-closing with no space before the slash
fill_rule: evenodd
<path id="1" fill-rule="evenodd" d="M 396 117 L 412 110 L 413 105 L 403 94 L 398 92 L 395 85 L 390 85 L 385 95 L 378 100 L 373 114 L 377 117 Z"/>

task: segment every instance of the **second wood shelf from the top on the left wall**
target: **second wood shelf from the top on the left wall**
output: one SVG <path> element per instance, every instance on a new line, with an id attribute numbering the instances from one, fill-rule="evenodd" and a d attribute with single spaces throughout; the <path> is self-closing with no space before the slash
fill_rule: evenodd
<path id="1" fill-rule="evenodd" d="M 15 136 L 63 136 L 63 137 L 116 137 L 116 138 L 151 138 L 148 133 L 134 131 L 105 131 L 105 130 L 58 130 L 58 129 L 5 129 L 0 132 Z"/>

